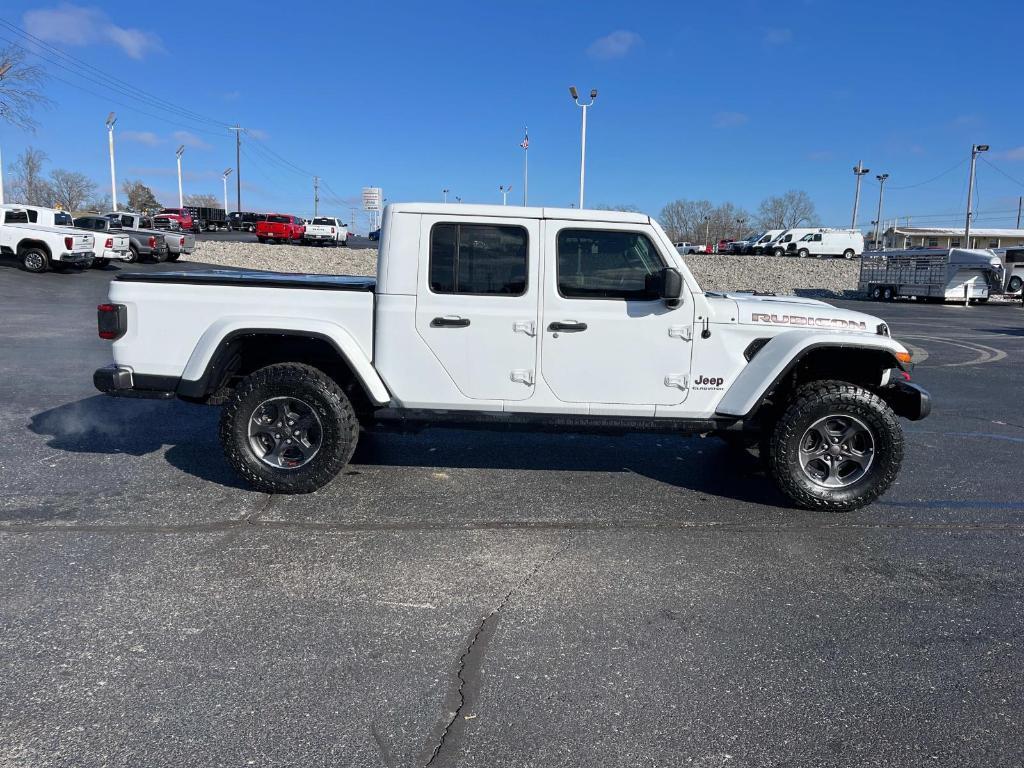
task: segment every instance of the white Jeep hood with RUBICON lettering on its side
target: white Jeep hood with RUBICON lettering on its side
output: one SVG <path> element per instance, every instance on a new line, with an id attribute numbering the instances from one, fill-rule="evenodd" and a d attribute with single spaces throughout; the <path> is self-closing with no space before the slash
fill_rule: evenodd
<path id="1" fill-rule="evenodd" d="M 878 333 L 884 321 L 800 296 L 758 296 L 752 293 L 713 294 L 712 299 L 734 303 L 736 323 L 744 326 L 806 328 Z M 717 303 L 717 302 L 714 302 Z"/>

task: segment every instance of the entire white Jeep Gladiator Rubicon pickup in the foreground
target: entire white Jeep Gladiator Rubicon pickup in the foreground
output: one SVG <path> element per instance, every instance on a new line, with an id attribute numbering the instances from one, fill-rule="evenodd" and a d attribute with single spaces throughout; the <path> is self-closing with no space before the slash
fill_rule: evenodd
<path id="1" fill-rule="evenodd" d="M 717 434 L 797 505 L 878 498 L 923 419 L 877 317 L 705 293 L 636 213 L 399 204 L 377 278 L 119 274 L 98 310 L 115 395 L 223 403 L 228 462 L 265 493 L 327 484 L 360 426 Z"/>

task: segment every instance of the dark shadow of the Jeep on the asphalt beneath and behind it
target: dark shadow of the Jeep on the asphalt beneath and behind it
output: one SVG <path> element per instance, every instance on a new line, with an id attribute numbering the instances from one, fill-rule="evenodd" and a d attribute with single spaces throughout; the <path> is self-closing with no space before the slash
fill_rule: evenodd
<path id="1" fill-rule="evenodd" d="M 164 459 L 209 482 L 247 488 L 217 440 L 220 410 L 180 401 L 87 397 L 34 415 L 47 446 L 77 454 Z M 755 459 L 717 439 L 671 434 L 614 436 L 426 429 L 364 432 L 348 471 L 426 467 L 554 472 L 625 472 L 697 494 L 785 506 Z M 330 486 L 319 492 L 329 494 Z"/>

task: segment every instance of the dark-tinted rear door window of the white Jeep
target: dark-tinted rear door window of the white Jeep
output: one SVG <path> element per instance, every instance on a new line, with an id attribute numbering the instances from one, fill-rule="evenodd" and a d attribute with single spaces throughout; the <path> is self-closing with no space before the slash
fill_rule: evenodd
<path id="1" fill-rule="evenodd" d="M 434 224 L 430 290 L 443 294 L 522 296 L 529 240 L 521 226 Z"/>

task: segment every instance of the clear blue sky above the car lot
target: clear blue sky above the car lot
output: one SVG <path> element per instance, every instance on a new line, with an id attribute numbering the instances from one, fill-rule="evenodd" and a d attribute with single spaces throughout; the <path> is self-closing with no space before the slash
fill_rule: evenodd
<path id="1" fill-rule="evenodd" d="M 500 202 L 499 184 L 511 183 L 521 201 L 526 125 L 530 203 L 568 205 L 579 184 L 572 84 L 599 89 L 589 205 L 656 214 L 690 198 L 754 211 L 800 188 L 824 223 L 845 225 L 851 168 L 863 160 L 861 221 L 886 171 L 885 216 L 953 223 L 972 142 L 992 146 L 992 165 L 979 165 L 978 223 L 1012 225 L 1024 195 L 1024 9 L 1010 2 L 5 0 L 2 17 L 184 110 L 251 129 L 249 210 L 310 212 L 311 180 L 291 166 L 327 179 L 337 195 L 322 201 L 328 209 L 347 208 L 365 185 L 391 201 L 439 200 L 449 187 L 452 199 Z M 4 39 L 16 38 L 0 29 Z M 31 143 L 51 167 L 105 187 L 113 110 L 121 178 L 173 202 L 183 142 L 185 190 L 220 197 L 234 162 L 228 131 L 83 80 L 82 68 L 41 63 L 60 78 L 46 86 L 53 103 L 35 135 L 0 126 L 5 161 Z"/>

